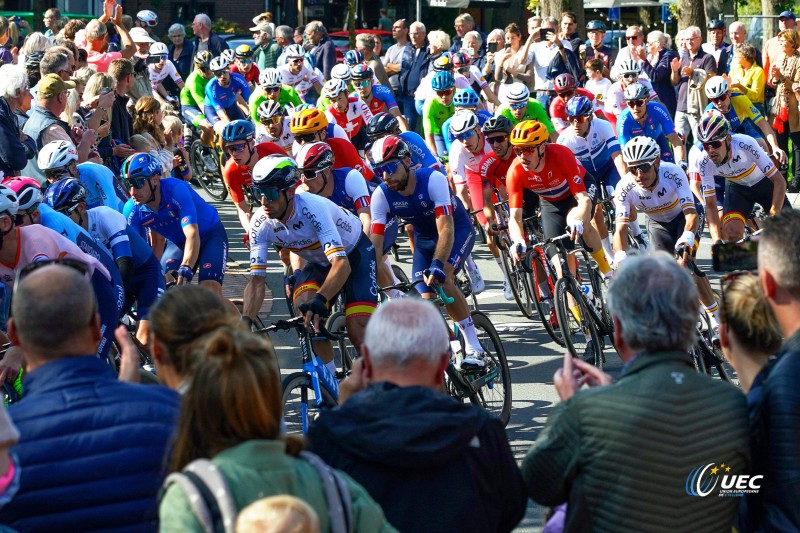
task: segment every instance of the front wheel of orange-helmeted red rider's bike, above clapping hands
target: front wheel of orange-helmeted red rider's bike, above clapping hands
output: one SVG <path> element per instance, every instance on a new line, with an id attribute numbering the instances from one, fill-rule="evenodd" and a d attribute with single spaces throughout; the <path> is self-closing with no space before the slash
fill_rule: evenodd
<path id="1" fill-rule="evenodd" d="M 603 368 L 600 335 L 581 289 L 572 277 L 561 278 L 556 283 L 555 306 L 558 327 L 572 356 Z"/>

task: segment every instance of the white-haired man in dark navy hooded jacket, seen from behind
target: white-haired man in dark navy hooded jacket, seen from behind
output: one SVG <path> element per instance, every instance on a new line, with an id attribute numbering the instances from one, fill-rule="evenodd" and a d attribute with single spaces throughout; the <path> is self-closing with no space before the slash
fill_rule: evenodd
<path id="1" fill-rule="evenodd" d="M 341 407 L 309 431 L 313 449 L 400 531 L 512 531 L 525 513 L 522 478 L 502 424 L 442 392 L 450 348 L 439 311 L 421 300 L 382 305 L 362 346 Z"/>

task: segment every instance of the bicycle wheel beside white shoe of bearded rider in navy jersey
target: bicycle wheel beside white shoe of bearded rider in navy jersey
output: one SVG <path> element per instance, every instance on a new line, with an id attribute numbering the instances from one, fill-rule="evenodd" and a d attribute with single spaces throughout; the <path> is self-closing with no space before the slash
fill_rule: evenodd
<path id="1" fill-rule="evenodd" d="M 503 423 L 511 418 L 511 371 L 503 343 L 489 318 L 480 311 L 472 312 L 472 321 L 478 340 L 486 351 L 486 367 L 478 374 L 465 376 L 473 384 L 485 380 L 478 392 L 470 395 L 470 401 L 489 411 Z"/>

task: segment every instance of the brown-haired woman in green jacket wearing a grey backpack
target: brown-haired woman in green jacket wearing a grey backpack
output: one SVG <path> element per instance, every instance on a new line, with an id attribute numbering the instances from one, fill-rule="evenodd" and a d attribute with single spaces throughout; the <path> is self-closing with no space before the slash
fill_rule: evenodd
<path id="1" fill-rule="evenodd" d="M 297 458 L 297 437 L 281 431 L 281 373 L 271 343 L 223 326 L 196 341 L 201 358 L 183 396 L 172 470 L 210 458 L 240 508 L 265 496 L 289 494 L 305 500 L 330 531 L 328 502 L 319 474 Z M 246 410 L 241 406 L 247 405 Z M 202 438 L 198 438 L 202 435 Z M 349 477 L 354 531 L 387 531 L 381 508 Z M 339 504 L 339 502 L 336 502 Z M 169 485 L 159 509 L 165 531 L 203 531 L 180 484 Z"/>

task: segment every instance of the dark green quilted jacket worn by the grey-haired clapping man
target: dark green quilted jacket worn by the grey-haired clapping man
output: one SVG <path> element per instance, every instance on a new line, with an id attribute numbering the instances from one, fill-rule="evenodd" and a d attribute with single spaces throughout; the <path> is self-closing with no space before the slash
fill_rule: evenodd
<path id="1" fill-rule="evenodd" d="M 565 532 L 729 533 L 739 498 L 720 497 L 719 485 L 687 494 L 690 472 L 710 463 L 748 473 L 745 396 L 685 354 L 656 353 L 554 407 L 522 475 L 535 501 L 567 502 Z"/>

